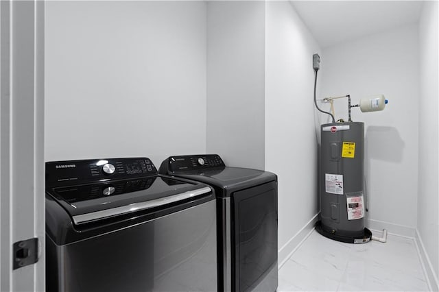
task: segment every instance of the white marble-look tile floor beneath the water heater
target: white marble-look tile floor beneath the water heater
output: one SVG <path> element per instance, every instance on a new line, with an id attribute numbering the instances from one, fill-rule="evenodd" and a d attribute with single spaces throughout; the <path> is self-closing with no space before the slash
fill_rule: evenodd
<path id="1" fill-rule="evenodd" d="M 387 243 L 354 245 L 313 230 L 279 269 L 277 291 L 429 291 L 429 287 L 414 239 L 388 234 Z"/>

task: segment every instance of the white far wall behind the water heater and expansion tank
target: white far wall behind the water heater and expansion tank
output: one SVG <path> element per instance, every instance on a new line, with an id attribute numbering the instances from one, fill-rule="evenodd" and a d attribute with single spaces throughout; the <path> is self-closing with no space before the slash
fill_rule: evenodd
<path id="1" fill-rule="evenodd" d="M 391 223 L 389 232 L 412 230 L 410 236 L 418 192 L 418 56 L 417 25 L 407 25 L 323 49 L 319 77 L 320 97 L 350 94 L 353 104 L 379 93 L 389 99 L 382 112 L 353 108 L 352 117 L 365 123 L 369 224 Z M 335 108 L 336 119 L 342 112 L 347 120 L 347 101 Z"/>

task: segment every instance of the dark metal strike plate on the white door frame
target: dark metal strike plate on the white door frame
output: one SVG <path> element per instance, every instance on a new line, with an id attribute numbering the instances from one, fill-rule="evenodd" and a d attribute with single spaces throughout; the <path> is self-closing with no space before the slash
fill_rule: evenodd
<path id="1" fill-rule="evenodd" d="M 38 262 L 38 239 L 27 239 L 14 243 L 14 269 Z"/>

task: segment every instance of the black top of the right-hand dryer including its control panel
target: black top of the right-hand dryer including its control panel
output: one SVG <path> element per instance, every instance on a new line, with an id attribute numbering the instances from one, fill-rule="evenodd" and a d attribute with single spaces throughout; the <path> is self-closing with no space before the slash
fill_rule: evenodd
<path id="1" fill-rule="evenodd" d="M 268 171 L 226 167 L 217 154 L 171 156 L 162 162 L 158 172 L 215 186 L 219 197 L 229 197 L 235 191 L 277 181 L 277 176 Z"/>

